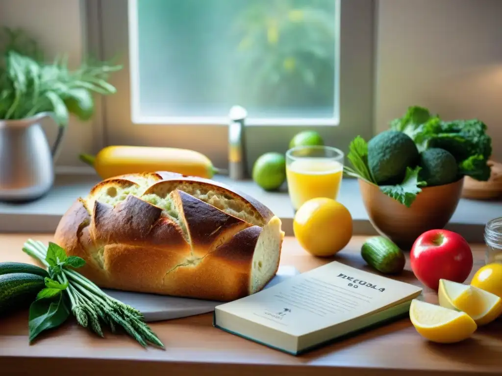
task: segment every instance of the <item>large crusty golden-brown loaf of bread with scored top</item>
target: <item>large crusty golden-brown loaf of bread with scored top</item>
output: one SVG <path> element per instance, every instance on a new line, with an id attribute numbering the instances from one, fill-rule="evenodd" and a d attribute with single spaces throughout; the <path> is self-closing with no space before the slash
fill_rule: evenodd
<path id="1" fill-rule="evenodd" d="M 55 233 L 102 288 L 218 301 L 263 289 L 283 239 L 280 219 L 253 198 L 164 171 L 101 181 Z"/>

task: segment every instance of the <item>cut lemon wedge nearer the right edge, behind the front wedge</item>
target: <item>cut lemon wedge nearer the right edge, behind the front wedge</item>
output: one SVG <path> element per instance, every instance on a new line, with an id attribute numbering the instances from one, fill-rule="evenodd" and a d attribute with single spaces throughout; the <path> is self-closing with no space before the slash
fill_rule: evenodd
<path id="1" fill-rule="evenodd" d="M 502 313 L 502 299 L 488 291 L 463 283 L 439 280 L 439 305 L 467 313 L 478 326 L 485 325 Z"/>

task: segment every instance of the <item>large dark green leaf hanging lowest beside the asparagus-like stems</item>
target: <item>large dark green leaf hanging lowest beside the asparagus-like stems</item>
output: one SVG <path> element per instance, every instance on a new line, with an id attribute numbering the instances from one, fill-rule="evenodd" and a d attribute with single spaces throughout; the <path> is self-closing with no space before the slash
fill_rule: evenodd
<path id="1" fill-rule="evenodd" d="M 30 305 L 28 327 L 30 342 L 44 330 L 56 328 L 70 315 L 70 311 L 59 293 L 53 298 L 35 300 Z"/>

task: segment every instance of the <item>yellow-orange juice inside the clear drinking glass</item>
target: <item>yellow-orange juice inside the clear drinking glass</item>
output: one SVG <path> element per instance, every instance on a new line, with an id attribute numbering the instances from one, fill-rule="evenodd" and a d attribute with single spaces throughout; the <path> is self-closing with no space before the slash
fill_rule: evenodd
<path id="1" fill-rule="evenodd" d="M 288 191 L 293 208 L 316 197 L 336 200 L 340 190 L 343 164 L 327 157 L 293 160 L 286 166 Z"/>

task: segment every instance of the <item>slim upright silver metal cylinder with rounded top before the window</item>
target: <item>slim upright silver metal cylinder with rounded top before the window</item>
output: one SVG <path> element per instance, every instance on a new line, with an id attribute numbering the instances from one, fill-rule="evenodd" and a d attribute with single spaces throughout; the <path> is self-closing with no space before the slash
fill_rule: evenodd
<path id="1" fill-rule="evenodd" d="M 247 111 L 241 106 L 233 106 L 228 118 L 228 176 L 233 180 L 247 177 L 245 153 L 245 119 Z"/>

